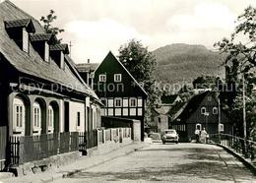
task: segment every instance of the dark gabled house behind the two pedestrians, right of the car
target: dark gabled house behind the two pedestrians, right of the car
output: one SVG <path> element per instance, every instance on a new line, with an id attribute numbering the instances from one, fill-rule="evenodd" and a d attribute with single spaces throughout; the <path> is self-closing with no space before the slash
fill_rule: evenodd
<path id="1" fill-rule="evenodd" d="M 205 128 L 208 134 L 232 134 L 233 124 L 214 91 L 205 91 L 194 95 L 187 103 L 172 115 L 169 128 L 174 128 L 181 141 L 194 138 L 196 128 Z"/>

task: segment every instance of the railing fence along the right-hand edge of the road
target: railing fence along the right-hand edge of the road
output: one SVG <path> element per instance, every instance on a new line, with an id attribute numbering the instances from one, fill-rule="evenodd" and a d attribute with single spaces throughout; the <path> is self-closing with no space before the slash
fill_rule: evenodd
<path id="1" fill-rule="evenodd" d="M 246 158 L 255 157 L 256 142 L 244 140 L 243 138 L 231 136 L 229 134 L 213 134 L 210 135 L 212 143 L 221 144 L 235 152 L 242 153 Z"/>

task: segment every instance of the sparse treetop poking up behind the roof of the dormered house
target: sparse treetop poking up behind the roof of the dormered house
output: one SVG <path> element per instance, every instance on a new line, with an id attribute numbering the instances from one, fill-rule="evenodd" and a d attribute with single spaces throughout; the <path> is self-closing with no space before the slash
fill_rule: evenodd
<path id="1" fill-rule="evenodd" d="M 50 10 L 50 13 L 46 17 L 41 17 L 40 21 L 43 23 L 43 29 L 46 33 L 52 33 L 57 36 L 58 33 L 63 32 L 63 29 L 59 29 L 56 27 L 53 27 L 52 24 L 54 21 L 57 20 L 57 16 L 54 15 L 55 12 L 53 10 Z M 54 43 L 60 43 L 62 39 L 58 39 Z"/>

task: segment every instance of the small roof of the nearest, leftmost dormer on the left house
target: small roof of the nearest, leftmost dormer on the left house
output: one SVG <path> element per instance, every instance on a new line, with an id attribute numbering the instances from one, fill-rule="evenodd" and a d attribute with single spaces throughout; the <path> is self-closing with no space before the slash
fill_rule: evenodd
<path id="1" fill-rule="evenodd" d="M 29 30 L 30 32 L 35 31 L 32 24 L 32 19 L 18 19 L 18 20 L 6 21 L 5 28 L 6 29 L 27 28 L 27 30 Z"/>

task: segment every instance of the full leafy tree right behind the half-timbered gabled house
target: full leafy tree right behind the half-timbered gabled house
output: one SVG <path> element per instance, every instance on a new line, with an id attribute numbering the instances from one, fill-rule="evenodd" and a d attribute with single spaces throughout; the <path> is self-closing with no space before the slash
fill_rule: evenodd
<path id="1" fill-rule="evenodd" d="M 119 48 L 120 62 L 148 92 L 147 115 L 160 103 L 160 90 L 156 88 L 154 72 L 157 67 L 156 57 L 141 41 L 132 39 Z"/>

